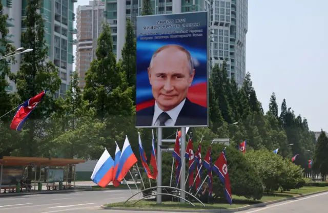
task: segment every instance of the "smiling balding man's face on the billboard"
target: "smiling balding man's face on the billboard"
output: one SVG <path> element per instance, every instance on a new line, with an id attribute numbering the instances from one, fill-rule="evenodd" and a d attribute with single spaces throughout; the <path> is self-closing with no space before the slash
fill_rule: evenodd
<path id="1" fill-rule="evenodd" d="M 153 96 L 162 111 L 170 111 L 187 97 L 195 70 L 190 73 L 185 52 L 169 47 L 159 52 L 148 68 Z"/>

